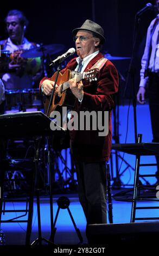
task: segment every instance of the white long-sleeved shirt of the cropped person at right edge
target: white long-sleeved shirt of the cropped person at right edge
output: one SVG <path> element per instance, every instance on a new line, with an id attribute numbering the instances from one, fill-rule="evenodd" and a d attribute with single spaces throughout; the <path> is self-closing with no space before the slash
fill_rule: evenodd
<path id="1" fill-rule="evenodd" d="M 159 18 L 159 14 L 157 15 Z M 147 83 L 149 82 L 149 77 L 144 77 L 144 72 L 147 64 L 147 60 L 149 57 L 149 47 L 151 44 L 151 55 L 150 55 L 150 62 L 149 62 L 149 70 L 151 72 L 159 72 L 159 44 L 157 44 L 157 37 L 159 33 L 159 22 L 155 28 L 154 34 L 152 35 L 152 40 L 151 39 L 151 29 L 154 25 L 156 18 L 151 21 L 150 26 L 148 27 L 148 32 L 147 32 L 147 40 L 145 44 L 145 49 L 144 49 L 144 54 L 142 57 L 141 61 L 141 71 L 140 71 L 140 76 L 141 76 L 141 81 L 139 83 L 139 86 L 145 87 Z"/>

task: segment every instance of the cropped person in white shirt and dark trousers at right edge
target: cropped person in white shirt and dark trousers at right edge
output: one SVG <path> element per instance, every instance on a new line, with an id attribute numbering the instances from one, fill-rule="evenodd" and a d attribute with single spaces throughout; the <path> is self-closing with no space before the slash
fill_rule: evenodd
<path id="1" fill-rule="evenodd" d="M 156 0 L 156 5 L 159 12 L 159 0 Z M 148 89 L 152 142 L 159 143 L 159 120 L 156 115 L 159 112 L 159 14 L 148 27 L 141 67 L 137 101 L 141 104 L 145 103 L 145 90 Z M 159 156 L 156 156 L 156 162 L 156 179 L 159 184 Z"/>

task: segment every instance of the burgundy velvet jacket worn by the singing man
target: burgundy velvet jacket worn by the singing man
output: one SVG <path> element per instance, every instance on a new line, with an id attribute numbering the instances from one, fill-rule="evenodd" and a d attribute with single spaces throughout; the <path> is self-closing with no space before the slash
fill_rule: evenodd
<path id="1" fill-rule="evenodd" d="M 90 63 L 86 66 L 85 71 L 101 58 L 103 54 L 98 53 Z M 71 59 L 66 68 L 61 70 L 63 74 L 66 69 L 74 70 L 77 66 L 76 58 Z M 44 77 L 41 83 L 48 79 Z M 103 68 L 100 69 L 97 81 L 83 81 L 84 97 L 80 103 L 78 99 L 75 102 L 74 111 L 109 111 L 109 134 L 107 136 L 99 136 L 99 130 L 96 131 L 69 131 L 71 138 L 71 147 L 75 161 L 84 162 L 101 162 L 109 160 L 111 153 L 112 140 L 112 124 L 111 109 L 115 105 L 113 95 L 118 91 L 118 72 L 115 66 L 107 60 Z"/>

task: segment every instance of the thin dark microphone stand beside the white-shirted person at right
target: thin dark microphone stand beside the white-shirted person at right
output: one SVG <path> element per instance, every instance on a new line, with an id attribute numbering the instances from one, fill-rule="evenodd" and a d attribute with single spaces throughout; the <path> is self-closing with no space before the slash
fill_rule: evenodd
<path id="1" fill-rule="evenodd" d="M 135 92 L 135 68 L 133 66 L 133 60 L 135 55 L 135 46 L 136 46 L 136 39 L 138 35 L 138 25 L 139 25 L 140 18 L 138 15 L 135 15 L 135 26 L 133 30 L 133 44 L 132 44 L 132 53 L 131 53 L 131 60 L 128 70 L 128 76 L 126 77 L 126 85 L 124 90 L 124 97 L 126 94 L 126 90 L 128 89 L 128 82 L 131 75 L 131 83 L 132 83 L 132 105 L 133 105 L 133 120 L 134 120 L 134 130 L 135 130 L 135 143 L 137 143 L 137 120 L 136 120 L 136 92 Z"/>

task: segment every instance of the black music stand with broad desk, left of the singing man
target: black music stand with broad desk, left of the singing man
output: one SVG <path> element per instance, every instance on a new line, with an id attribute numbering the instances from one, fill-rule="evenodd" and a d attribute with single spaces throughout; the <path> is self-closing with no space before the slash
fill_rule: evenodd
<path id="1" fill-rule="evenodd" d="M 42 237 L 41 235 L 41 219 L 40 219 L 40 196 L 39 196 L 39 147 L 40 139 L 42 136 L 49 136 L 61 133 L 63 135 L 65 130 L 62 129 L 58 124 L 56 124 L 58 130 L 52 131 L 50 129 L 50 123 L 54 122 L 52 119 L 48 118 L 41 111 L 36 112 L 20 112 L 15 114 L 4 114 L 0 115 L 0 127 L 1 134 L 3 138 L 20 138 L 20 137 L 34 137 L 35 139 L 35 180 L 36 180 L 36 200 L 37 200 L 37 220 L 38 220 L 38 237 L 31 243 L 31 245 L 42 245 L 42 241 L 54 245 L 54 241 L 50 241 Z M 54 122 L 55 124 L 55 122 Z M 50 153 L 49 153 L 50 154 Z M 52 198 L 52 174 L 49 169 L 49 196 L 50 196 L 50 222 L 51 222 L 51 233 L 54 229 L 53 223 L 53 198 Z M 33 204 L 34 193 L 31 195 L 31 204 Z M 32 214 L 30 212 L 30 214 Z M 29 231 L 31 233 L 31 223 L 29 223 Z M 53 237 L 51 235 L 51 237 Z M 29 245 L 30 237 L 27 240 Z"/>

